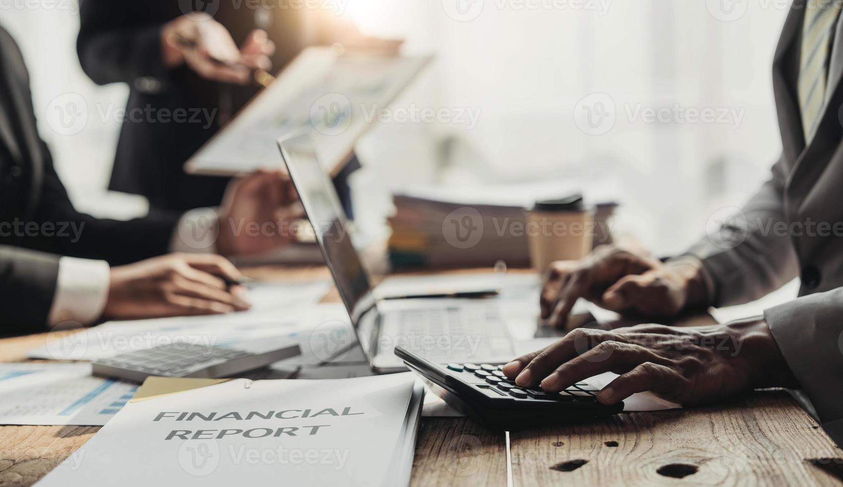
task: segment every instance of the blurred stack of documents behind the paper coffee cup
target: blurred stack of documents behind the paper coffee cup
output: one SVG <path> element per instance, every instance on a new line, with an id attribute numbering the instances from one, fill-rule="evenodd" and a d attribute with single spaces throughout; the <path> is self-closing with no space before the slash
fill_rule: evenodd
<path id="1" fill-rule="evenodd" d="M 509 267 L 529 267 L 527 212 L 536 201 L 583 192 L 598 208 L 614 208 L 613 188 L 572 179 L 412 187 L 393 195 L 389 262 L 393 268 L 465 268 L 491 267 L 502 260 Z"/>

